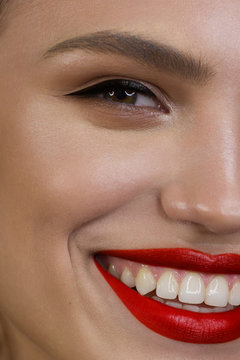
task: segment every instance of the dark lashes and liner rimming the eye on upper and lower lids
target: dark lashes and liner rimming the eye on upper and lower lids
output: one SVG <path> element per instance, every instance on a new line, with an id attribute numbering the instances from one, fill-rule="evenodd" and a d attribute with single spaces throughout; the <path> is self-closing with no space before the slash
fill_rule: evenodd
<path id="1" fill-rule="evenodd" d="M 149 107 L 151 109 L 151 111 L 163 111 L 165 113 L 168 113 L 168 109 L 166 107 L 165 104 L 163 104 L 163 100 L 160 101 L 157 96 L 150 90 L 148 89 L 146 86 L 144 86 L 143 84 L 137 82 L 137 81 L 133 81 L 133 80 L 127 80 L 127 79 L 113 79 L 113 80 L 107 80 L 107 81 L 103 81 L 101 83 L 95 84 L 93 86 L 90 86 L 88 88 L 82 89 L 82 90 L 78 90 L 76 92 L 67 94 L 66 96 L 72 96 L 72 97 L 82 97 L 82 98 L 96 98 L 98 97 L 98 100 L 100 101 L 105 101 L 105 103 L 108 103 L 108 105 L 110 104 L 111 106 L 114 107 L 134 107 L 134 108 L 143 108 L 143 106 L 136 106 L 136 105 L 126 105 L 126 104 L 122 104 L 122 103 L 117 103 L 117 101 L 113 101 L 113 100 L 107 100 L 105 99 L 103 96 L 98 96 L 100 94 L 109 94 L 111 91 L 113 90 L 124 90 L 125 92 L 129 90 L 132 92 L 135 92 L 136 94 L 141 94 L 147 97 L 150 97 L 155 103 L 156 103 L 156 108 L 153 107 Z M 144 106 L 145 108 L 147 106 Z"/>

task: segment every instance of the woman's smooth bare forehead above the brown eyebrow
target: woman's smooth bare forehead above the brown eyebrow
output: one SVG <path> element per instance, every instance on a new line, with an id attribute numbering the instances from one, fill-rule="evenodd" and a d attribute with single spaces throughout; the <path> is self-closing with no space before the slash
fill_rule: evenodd
<path id="1" fill-rule="evenodd" d="M 215 60 L 239 56 L 240 4 L 222 0 L 12 0 L 1 46 L 40 57 L 56 42 L 90 32 L 123 30 Z M 17 48 L 16 48 L 17 44 Z"/>

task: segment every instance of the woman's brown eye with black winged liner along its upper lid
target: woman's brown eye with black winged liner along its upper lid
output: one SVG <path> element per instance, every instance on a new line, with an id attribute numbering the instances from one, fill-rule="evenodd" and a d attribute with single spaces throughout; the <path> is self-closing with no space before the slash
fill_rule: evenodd
<path id="1" fill-rule="evenodd" d="M 112 105 L 149 107 L 155 110 L 164 110 L 162 102 L 150 89 L 133 80 L 108 80 L 67 94 L 66 96 L 97 98 L 98 100 L 102 99 L 110 102 Z"/>

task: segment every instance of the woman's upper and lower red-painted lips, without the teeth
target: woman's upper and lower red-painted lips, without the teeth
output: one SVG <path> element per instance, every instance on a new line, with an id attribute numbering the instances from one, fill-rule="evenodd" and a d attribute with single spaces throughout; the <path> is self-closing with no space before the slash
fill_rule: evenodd
<path id="1" fill-rule="evenodd" d="M 237 254 L 209 255 L 184 248 L 105 250 L 99 254 L 152 266 L 240 274 L 240 255 Z M 128 310 L 154 332 L 174 340 L 198 344 L 223 343 L 240 337 L 240 307 L 222 313 L 195 313 L 172 308 L 127 287 L 96 259 L 95 264 Z"/>

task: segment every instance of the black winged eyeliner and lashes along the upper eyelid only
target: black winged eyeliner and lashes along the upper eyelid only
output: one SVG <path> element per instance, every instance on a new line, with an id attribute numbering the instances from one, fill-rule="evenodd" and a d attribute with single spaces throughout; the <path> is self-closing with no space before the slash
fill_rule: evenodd
<path id="1" fill-rule="evenodd" d="M 135 90 L 139 93 L 142 93 L 144 95 L 151 96 L 152 98 L 156 99 L 156 95 L 149 90 L 146 86 L 144 86 L 141 83 L 138 83 L 133 80 L 107 80 L 103 81 L 99 84 L 95 84 L 93 86 L 90 86 L 83 90 L 78 90 L 76 92 L 67 94 L 66 96 L 82 96 L 82 97 L 90 97 L 99 94 L 100 92 L 107 92 L 112 90 L 113 88 L 120 87 L 124 90 Z"/>

